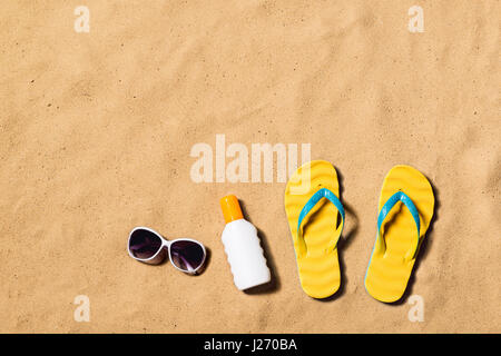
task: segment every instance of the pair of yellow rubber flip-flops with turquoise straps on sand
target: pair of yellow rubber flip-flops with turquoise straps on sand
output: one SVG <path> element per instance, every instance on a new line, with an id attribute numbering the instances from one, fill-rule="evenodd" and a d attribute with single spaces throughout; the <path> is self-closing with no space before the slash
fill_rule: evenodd
<path id="1" fill-rule="evenodd" d="M 399 300 L 433 217 L 433 189 L 419 170 L 395 166 L 384 178 L 377 233 L 365 275 L 365 289 L 384 303 Z M 285 211 L 294 240 L 301 286 L 326 298 L 341 285 L 337 241 L 345 212 L 334 167 L 315 160 L 298 168 L 285 189 Z"/>

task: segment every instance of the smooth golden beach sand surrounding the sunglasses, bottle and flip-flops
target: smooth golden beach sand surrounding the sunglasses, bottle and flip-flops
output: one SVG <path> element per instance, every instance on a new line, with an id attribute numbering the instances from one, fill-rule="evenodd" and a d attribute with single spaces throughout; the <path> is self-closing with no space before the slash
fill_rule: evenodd
<path id="1" fill-rule="evenodd" d="M 90 31 L 76 32 L 77 6 Z M 424 32 L 407 29 L 410 7 Z M 0 332 L 501 332 L 499 1 L 0 4 Z M 311 144 L 342 177 L 342 290 L 301 289 L 285 184 L 195 182 L 193 147 Z M 229 162 L 230 159 L 227 159 Z M 364 289 L 383 178 L 438 208 L 402 303 Z M 214 169 L 215 171 L 215 169 Z M 233 285 L 218 200 L 236 194 L 274 283 Z M 196 277 L 129 258 L 143 225 L 210 250 Z M 76 322 L 76 296 L 90 322 Z M 411 296 L 424 320 L 411 322 Z"/>

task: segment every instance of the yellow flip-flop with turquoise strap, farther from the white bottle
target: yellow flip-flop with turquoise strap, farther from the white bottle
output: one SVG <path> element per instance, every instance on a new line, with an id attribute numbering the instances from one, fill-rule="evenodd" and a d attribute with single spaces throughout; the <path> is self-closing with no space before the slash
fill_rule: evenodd
<path id="1" fill-rule="evenodd" d="M 365 289 L 375 299 L 393 303 L 403 296 L 434 202 L 430 181 L 415 168 L 395 166 L 384 178 L 376 241 L 365 274 Z"/>

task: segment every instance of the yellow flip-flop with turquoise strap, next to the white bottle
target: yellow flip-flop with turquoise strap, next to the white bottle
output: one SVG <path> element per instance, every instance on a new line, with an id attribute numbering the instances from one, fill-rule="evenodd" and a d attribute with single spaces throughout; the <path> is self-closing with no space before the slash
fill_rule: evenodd
<path id="1" fill-rule="evenodd" d="M 285 212 L 293 236 L 303 290 L 326 298 L 340 288 L 337 240 L 344 226 L 344 208 L 334 167 L 314 160 L 299 167 L 285 188 Z M 337 226 L 337 214 L 341 224 Z"/>

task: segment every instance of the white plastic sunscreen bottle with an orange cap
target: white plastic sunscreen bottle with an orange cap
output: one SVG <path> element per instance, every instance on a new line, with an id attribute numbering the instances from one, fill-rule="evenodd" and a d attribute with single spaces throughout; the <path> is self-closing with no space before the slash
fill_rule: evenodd
<path id="1" fill-rule="evenodd" d="M 272 275 L 266 266 L 256 227 L 244 219 L 235 196 L 220 199 L 220 207 L 226 221 L 222 240 L 235 286 L 244 290 L 268 283 Z"/>

